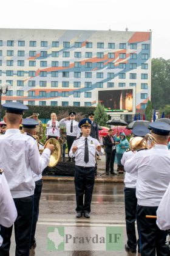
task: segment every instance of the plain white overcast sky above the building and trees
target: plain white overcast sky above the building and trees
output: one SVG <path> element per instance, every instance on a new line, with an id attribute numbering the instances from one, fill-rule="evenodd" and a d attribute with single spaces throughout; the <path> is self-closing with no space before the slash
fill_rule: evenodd
<path id="1" fill-rule="evenodd" d="M 152 57 L 170 59 L 169 0 L 1 0 L 0 26 L 152 30 Z M 1 35 L 0 35 L 1 37 Z"/>

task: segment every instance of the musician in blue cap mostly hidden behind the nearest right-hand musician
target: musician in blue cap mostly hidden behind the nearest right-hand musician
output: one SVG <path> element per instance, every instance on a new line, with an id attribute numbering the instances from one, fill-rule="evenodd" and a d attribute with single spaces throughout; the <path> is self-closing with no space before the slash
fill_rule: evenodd
<path id="1" fill-rule="evenodd" d="M 132 130 L 134 137 L 144 137 L 147 133 L 151 133 L 150 130 L 144 126 L 136 126 Z M 131 138 L 133 140 L 133 137 Z M 130 143 L 131 145 L 131 143 Z M 123 157 L 121 158 L 121 164 L 127 159 L 131 158 L 134 152 L 131 149 L 126 149 Z M 126 169 L 125 169 L 126 171 Z M 137 218 L 137 197 L 136 197 L 136 182 L 137 173 L 131 174 L 129 172 L 125 173 L 124 177 L 124 207 L 126 216 L 126 234 L 127 234 L 127 244 L 125 244 L 126 252 L 136 253 L 137 252 L 137 237 L 135 232 L 135 221 Z M 138 252 L 140 252 L 140 247 L 138 243 Z"/>

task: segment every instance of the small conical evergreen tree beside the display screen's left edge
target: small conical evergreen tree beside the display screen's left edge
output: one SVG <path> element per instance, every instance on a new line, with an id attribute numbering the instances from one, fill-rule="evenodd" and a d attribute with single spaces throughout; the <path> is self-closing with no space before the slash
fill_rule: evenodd
<path id="1" fill-rule="evenodd" d="M 97 123 L 100 126 L 106 126 L 106 122 L 108 121 L 108 116 L 104 110 L 104 105 L 101 105 L 98 103 L 97 108 L 95 109 L 94 112 L 94 119 L 97 121 Z"/>

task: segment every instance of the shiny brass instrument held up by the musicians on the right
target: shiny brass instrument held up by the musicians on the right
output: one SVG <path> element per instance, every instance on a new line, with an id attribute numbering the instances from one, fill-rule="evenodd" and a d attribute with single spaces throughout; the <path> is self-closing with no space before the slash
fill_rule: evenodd
<path id="1" fill-rule="evenodd" d="M 157 140 L 151 134 L 146 134 L 142 137 L 132 137 L 130 140 L 131 151 L 137 151 L 140 149 L 151 149 L 155 146 Z"/>

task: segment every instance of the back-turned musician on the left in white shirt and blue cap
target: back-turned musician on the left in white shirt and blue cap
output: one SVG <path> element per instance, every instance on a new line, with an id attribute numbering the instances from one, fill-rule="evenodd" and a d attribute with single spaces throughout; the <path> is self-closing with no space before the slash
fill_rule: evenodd
<path id="1" fill-rule="evenodd" d="M 50 153 L 54 146 L 47 144 L 47 148 L 39 155 L 38 147 L 32 137 L 19 131 L 22 123 L 23 111 L 27 110 L 23 104 L 9 102 L 2 105 L 6 108 L 5 122 L 7 131 L 0 137 L 0 162 L 4 169 L 5 178 L 15 202 L 18 216 L 15 225 L 16 255 L 29 255 L 30 233 L 32 227 L 33 193 L 35 182 L 32 171 L 40 174 L 49 164 Z M 13 226 L 1 226 L 3 238 L 0 255 L 9 255 L 10 238 Z"/>

